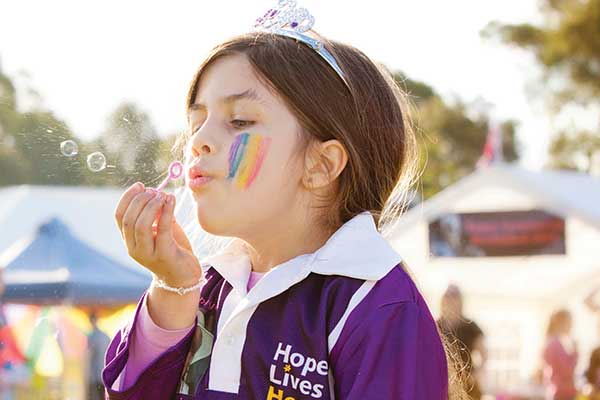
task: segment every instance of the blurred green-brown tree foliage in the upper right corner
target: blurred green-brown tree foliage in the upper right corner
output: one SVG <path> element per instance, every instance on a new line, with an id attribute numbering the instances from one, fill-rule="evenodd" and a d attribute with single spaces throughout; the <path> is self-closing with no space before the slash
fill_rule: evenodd
<path id="1" fill-rule="evenodd" d="M 565 106 L 597 115 L 600 0 L 543 0 L 540 4 L 544 16 L 540 25 L 493 22 L 484 35 L 498 37 L 535 57 L 542 70 L 538 95 L 546 100 L 554 115 L 561 114 Z M 592 172 L 594 165 L 598 168 L 600 157 L 598 136 L 600 125 L 592 131 L 588 127 L 560 132 L 550 145 L 550 165 Z"/>

